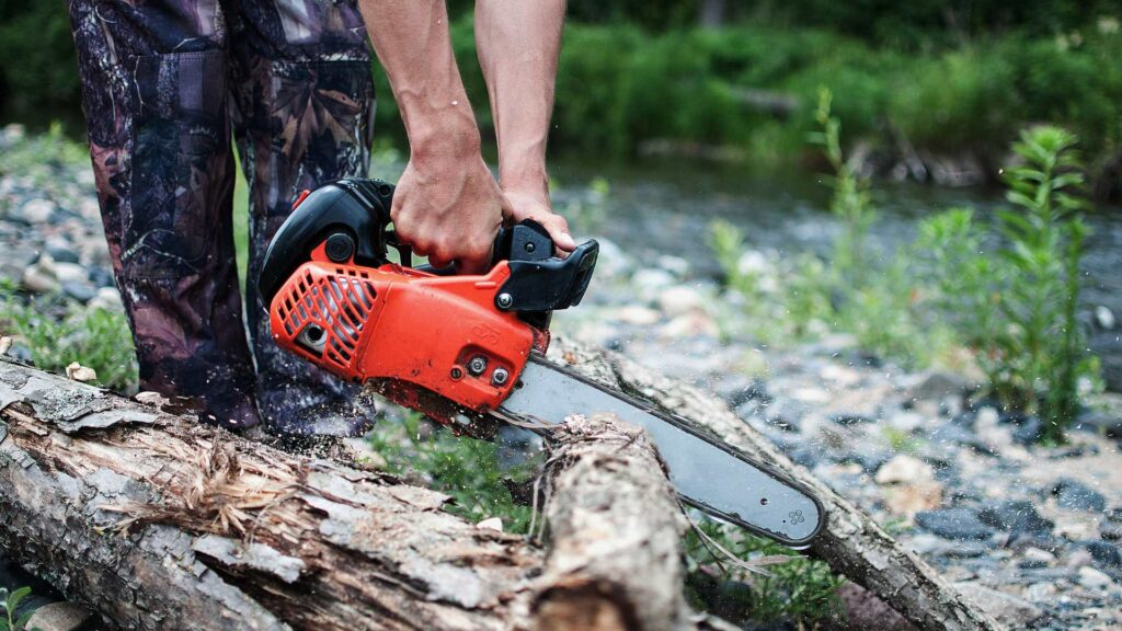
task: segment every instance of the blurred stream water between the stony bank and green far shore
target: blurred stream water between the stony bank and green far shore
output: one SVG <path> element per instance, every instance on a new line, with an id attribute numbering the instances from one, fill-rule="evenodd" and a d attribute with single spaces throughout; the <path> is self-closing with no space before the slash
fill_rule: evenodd
<path id="1" fill-rule="evenodd" d="M 647 159 L 637 164 L 590 166 L 557 161 L 554 176 L 562 183 L 604 177 L 609 183 L 607 211 L 596 231 L 644 256 L 669 254 L 690 260 L 699 274 L 716 273 L 707 246 L 709 221 L 723 218 L 738 226 L 749 247 L 781 254 L 825 254 L 840 229 L 829 213 L 830 191 L 822 177 L 799 168 L 782 172 L 751 165 Z M 874 201 L 879 218 L 870 235 L 873 260 L 892 256 L 911 241 L 917 222 L 953 207 L 972 207 L 983 220 L 1003 205 L 999 189 L 946 189 L 914 183 L 877 181 Z M 1094 232 L 1083 267 L 1083 320 L 1091 348 L 1103 362 L 1112 390 L 1122 390 L 1122 209 L 1098 208 L 1087 217 Z M 1101 307 L 1109 310 L 1104 313 Z M 1096 314 L 1097 311 L 1097 314 Z"/>

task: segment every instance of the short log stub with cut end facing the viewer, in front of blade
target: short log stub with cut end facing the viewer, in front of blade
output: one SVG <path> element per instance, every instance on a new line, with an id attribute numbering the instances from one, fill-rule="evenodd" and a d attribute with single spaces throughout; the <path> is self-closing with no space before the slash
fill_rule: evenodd
<path id="1" fill-rule="evenodd" d="M 611 415 L 573 417 L 552 442 L 539 629 L 682 628 L 686 520 L 646 432 Z"/>

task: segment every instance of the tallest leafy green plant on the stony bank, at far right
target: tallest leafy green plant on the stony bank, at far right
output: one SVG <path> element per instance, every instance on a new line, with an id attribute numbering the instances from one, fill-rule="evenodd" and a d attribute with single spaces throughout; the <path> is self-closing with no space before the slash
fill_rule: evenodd
<path id="1" fill-rule="evenodd" d="M 1078 411 L 1077 377 L 1087 372 L 1083 331 L 1075 317 L 1079 259 L 1089 229 L 1079 211 L 1084 182 L 1076 137 L 1057 127 L 1021 134 L 1013 150 L 1024 163 L 1005 171 L 1008 200 L 1000 213 L 1002 250 L 1011 282 L 1002 292 L 1008 320 L 990 350 L 1004 403 L 1037 412 L 1045 440 L 1060 440 Z"/>

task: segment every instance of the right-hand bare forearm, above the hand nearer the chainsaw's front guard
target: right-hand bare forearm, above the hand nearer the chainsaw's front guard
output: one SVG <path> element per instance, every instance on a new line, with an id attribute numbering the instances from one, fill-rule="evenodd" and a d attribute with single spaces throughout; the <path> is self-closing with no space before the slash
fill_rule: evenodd
<path id="1" fill-rule="evenodd" d="M 545 140 L 564 0 L 477 0 L 476 46 L 487 81 L 504 190 L 546 194 Z"/>

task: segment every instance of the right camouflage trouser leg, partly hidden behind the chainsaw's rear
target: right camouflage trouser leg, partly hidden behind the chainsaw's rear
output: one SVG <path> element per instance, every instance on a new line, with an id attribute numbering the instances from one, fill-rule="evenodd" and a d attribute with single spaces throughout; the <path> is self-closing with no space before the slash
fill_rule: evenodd
<path id="1" fill-rule="evenodd" d="M 257 401 L 272 428 L 359 433 L 373 410 L 357 387 L 284 353 L 257 295 L 265 249 L 304 189 L 366 176 L 374 83 L 366 28 L 353 0 L 238 0 L 231 16 L 232 119 L 250 185 L 247 318 Z M 233 12 L 231 8 L 230 12 Z"/>

